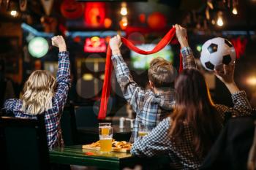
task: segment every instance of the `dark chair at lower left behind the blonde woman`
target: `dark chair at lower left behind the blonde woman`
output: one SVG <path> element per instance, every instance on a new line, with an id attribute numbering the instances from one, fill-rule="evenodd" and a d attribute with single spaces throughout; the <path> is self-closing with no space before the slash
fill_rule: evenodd
<path id="1" fill-rule="evenodd" d="M 0 117 L 0 156 L 4 170 L 50 169 L 44 115 L 37 120 Z"/>

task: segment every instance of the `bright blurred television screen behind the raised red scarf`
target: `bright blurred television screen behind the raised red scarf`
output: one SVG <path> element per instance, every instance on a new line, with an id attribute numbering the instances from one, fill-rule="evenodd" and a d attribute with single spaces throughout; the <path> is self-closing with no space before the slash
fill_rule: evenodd
<path id="1" fill-rule="evenodd" d="M 136 47 L 140 48 L 141 50 L 152 50 L 156 45 L 154 44 L 144 44 L 144 45 L 137 45 Z M 131 63 L 134 69 L 148 69 L 149 63 L 153 58 L 165 58 L 165 60 L 170 61 L 173 63 L 173 51 L 171 50 L 170 45 L 167 45 L 158 53 L 150 54 L 150 55 L 141 55 L 131 51 Z"/>

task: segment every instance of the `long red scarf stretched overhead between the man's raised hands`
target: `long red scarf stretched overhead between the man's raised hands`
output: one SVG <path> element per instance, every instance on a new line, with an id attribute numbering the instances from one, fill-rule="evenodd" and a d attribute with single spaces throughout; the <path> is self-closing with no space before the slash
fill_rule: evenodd
<path id="1" fill-rule="evenodd" d="M 167 34 L 161 39 L 161 41 L 157 44 L 156 47 L 154 47 L 151 51 L 144 51 L 140 50 L 138 47 L 135 47 L 135 45 L 132 44 L 132 42 L 129 42 L 128 39 L 125 39 L 124 37 L 121 37 L 121 42 L 124 43 L 124 45 L 127 45 L 130 50 L 134 50 L 136 53 L 147 55 L 147 54 L 154 54 L 159 52 L 159 50 L 162 50 L 166 45 L 168 45 L 173 37 L 176 34 L 176 28 L 173 27 L 170 29 L 170 31 L 167 32 Z M 102 98 L 100 101 L 100 108 L 99 108 L 99 115 L 98 119 L 105 119 L 106 113 L 107 113 L 107 106 L 108 106 L 108 98 L 110 96 L 110 86 L 111 86 L 111 72 L 113 63 L 111 62 L 111 49 L 108 45 L 107 50 L 107 58 L 106 58 L 106 65 L 105 65 L 105 76 L 104 76 L 104 83 L 102 88 Z M 179 72 L 182 71 L 182 57 L 180 55 L 180 69 Z"/>

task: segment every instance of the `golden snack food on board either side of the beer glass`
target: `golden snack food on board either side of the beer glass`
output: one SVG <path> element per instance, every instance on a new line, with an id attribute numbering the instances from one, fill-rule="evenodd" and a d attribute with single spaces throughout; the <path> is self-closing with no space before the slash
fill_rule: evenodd
<path id="1" fill-rule="evenodd" d="M 132 144 L 130 142 L 126 142 L 126 141 L 118 142 L 115 139 L 112 140 L 113 152 L 129 152 L 131 148 L 132 148 Z M 93 142 L 91 144 L 84 144 L 83 149 L 100 150 L 99 141 Z"/>

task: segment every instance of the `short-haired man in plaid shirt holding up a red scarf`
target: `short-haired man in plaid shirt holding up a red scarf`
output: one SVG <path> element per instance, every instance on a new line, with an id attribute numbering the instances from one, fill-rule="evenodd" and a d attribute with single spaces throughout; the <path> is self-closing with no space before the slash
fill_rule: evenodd
<path id="1" fill-rule="evenodd" d="M 195 59 L 192 50 L 187 42 L 187 30 L 176 24 L 176 36 L 181 45 L 181 55 L 183 67 L 195 68 Z M 120 36 L 110 39 L 112 50 L 112 61 L 116 70 L 117 81 L 124 94 L 124 98 L 131 104 L 136 112 L 135 126 L 130 142 L 138 138 L 139 124 L 154 128 L 167 117 L 172 110 L 174 90 L 173 82 L 176 71 L 173 66 L 162 58 L 155 58 L 151 61 L 148 69 L 149 84 L 153 90 L 143 90 L 132 80 L 127 64 L 121 56 L 119 47 L 121 45 Z"/>

